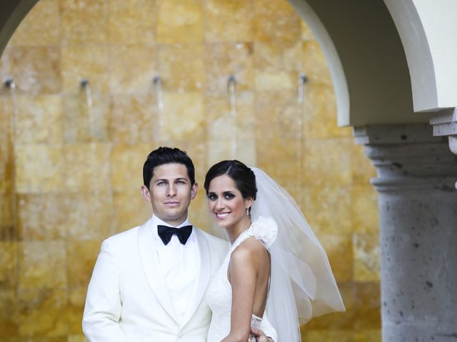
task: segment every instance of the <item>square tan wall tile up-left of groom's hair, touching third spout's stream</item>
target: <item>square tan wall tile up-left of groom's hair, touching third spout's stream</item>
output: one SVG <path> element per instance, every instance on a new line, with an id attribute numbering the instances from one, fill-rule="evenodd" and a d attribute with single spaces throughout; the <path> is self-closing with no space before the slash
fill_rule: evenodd
<path id="1" fill-rule="evenodd" d="M 156 98 L 151 94 L 121 94 L 109 110 L 111 140 L 123 144 L 152 142 L 159 135 Z"/>

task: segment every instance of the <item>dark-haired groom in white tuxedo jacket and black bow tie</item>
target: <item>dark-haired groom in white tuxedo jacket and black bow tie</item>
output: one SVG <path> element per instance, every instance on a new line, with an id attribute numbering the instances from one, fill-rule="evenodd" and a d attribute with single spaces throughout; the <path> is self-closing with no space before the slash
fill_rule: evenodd
<path id="1" fill-rule="evenodd" d="M 194 174 L 191 159 L 177 148 L 159 147 L 147 157 L 141 193 L 154 214 L 101 245 L 84 307 L 90 342 L 206 341 L 206 287 L 229 244 L 191 226 Z M 263 332 L 256 337 L 271 341 Z"/>

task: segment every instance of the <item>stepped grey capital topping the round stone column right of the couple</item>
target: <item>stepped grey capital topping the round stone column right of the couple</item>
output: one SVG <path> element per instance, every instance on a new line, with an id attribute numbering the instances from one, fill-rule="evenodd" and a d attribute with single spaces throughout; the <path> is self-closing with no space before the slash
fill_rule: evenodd
<path id="1" fill-rule="evenodd" d="M 373 161 L 378 192 L 438 190 L 454 192 L 457 156 L 445 136 L 427 124 L 371 125 L 354 128 L 359 145 Z"/>

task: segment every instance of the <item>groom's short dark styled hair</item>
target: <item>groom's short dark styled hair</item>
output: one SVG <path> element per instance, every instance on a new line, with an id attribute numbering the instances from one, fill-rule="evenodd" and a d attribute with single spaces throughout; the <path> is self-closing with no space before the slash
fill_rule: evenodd
<path id="1" fill-rule="evenodd" d="M 191 180 L 191 185 L 195 183 L 195 167 L 186 151 L 179 148 L 159 147 L 157 150 L 149 153 L 146 162 L 143 165 L 143 182 L 149 189 L 149 184 L 154 176 L 154 169 L 164 164 L 182 164 L 187 169 L 187 175 Z"/>

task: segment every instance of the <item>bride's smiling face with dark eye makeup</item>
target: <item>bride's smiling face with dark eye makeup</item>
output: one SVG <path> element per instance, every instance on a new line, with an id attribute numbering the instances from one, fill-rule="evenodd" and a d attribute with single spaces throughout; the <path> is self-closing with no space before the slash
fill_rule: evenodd
<path id="1" fill-rule="evenodd" d="M 209 183 L 208 207 L 211 216 L 220 227 L 232 229 L 243 227 L 248 216 L 246 208 L 251 207 L 253 199 L 244 199 L 228 175 L 215 177 Z"/>

